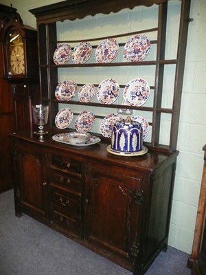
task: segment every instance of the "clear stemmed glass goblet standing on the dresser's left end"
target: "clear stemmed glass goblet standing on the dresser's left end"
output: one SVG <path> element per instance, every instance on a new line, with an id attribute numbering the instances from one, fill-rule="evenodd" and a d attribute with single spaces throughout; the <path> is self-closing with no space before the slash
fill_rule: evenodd
<path id="1" fill-rule="evenodd" d="M 34 131 L 37 135 L 45 135 L 48 132 L 43 130 L 43 125 L 47 124 L 49 115 L 49 106 L 39 104 L 32 106 L 34 123 L 39 125 L 38 131 Z"/>

